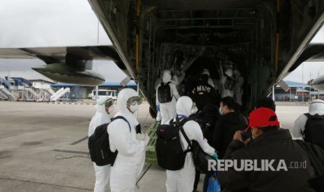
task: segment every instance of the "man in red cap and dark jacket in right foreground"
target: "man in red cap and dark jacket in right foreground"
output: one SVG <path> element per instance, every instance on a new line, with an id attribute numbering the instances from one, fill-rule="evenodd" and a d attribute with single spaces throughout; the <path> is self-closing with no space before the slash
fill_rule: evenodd
<path id="1" fill-rule="evenodd" d="M 307 179 L 316 176 L 307 152 L 293 141 L 288 129 L 280 129 L 277 115 L 268 108 L 249 115 L 253 141 L 236 131 L 224 155 L 233 166 L 219 171 L 219 184 L 231 191 L 315 191 Z M 246 129 L 246 130 L 247 130 Z M 324 164 L 324 152 L 316 148 Z"/>

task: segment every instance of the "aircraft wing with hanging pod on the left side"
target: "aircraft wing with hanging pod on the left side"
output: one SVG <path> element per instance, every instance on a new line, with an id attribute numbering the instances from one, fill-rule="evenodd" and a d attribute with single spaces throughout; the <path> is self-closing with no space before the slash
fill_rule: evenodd
<path id="1" fill-rule="evenodd" d="M 39 58 L 47 65 L 34 67 L 49 79 L 63 83 L 98 86 L 105 78 L 92 70 L 93 60 L 114 61 L 128 74 L 113 45 L 88 47 L 0 48 L 0 58 Z"/>

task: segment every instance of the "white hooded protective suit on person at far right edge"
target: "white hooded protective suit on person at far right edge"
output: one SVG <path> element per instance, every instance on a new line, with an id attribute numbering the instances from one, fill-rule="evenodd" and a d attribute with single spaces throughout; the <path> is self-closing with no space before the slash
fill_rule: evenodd
<path id="1" fill-rule="evenodd" d="M 309 112 L 310 115 L 324 115 L 324 102 L 321 99 L 315 99 L 313 102 L 311 102 L 311 105 L 309 106 Z M 302 132 L 305 130 L 305 125 L 308 118 L 306 115 L 302 114 L 300 115 L 297 120 L 295 120 L 295 125 L 293 125 L 293 136 L 296 138 L 302 137 Z M 304 139 L 304 138 L 302 138 Z"/>

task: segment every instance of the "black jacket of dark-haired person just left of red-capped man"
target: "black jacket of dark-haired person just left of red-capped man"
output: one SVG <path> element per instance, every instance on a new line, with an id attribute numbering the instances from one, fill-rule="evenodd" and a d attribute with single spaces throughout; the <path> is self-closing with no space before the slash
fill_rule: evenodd
<path id="1" fill-rule="evenodd" d="M 219 159 L 222 159 L 229 143 L 233 140 L 236 131 L 244 131 L 247 128 L 247 121 L 238 112 L 221 115 L 215 126 L 214 145 Z"/>

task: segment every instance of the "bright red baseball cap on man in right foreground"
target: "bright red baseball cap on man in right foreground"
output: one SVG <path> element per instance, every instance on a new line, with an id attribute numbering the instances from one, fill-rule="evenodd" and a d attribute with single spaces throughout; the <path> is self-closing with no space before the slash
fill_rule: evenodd
<path id="1" fill-rule="evenodd" d="M 272 125 L 279 126 L 279 121 L 276 113 L 271 109 L 260 107 L 249 113 L 249 126 L 247 129 L 250 127 L 267 127 Z"/>

